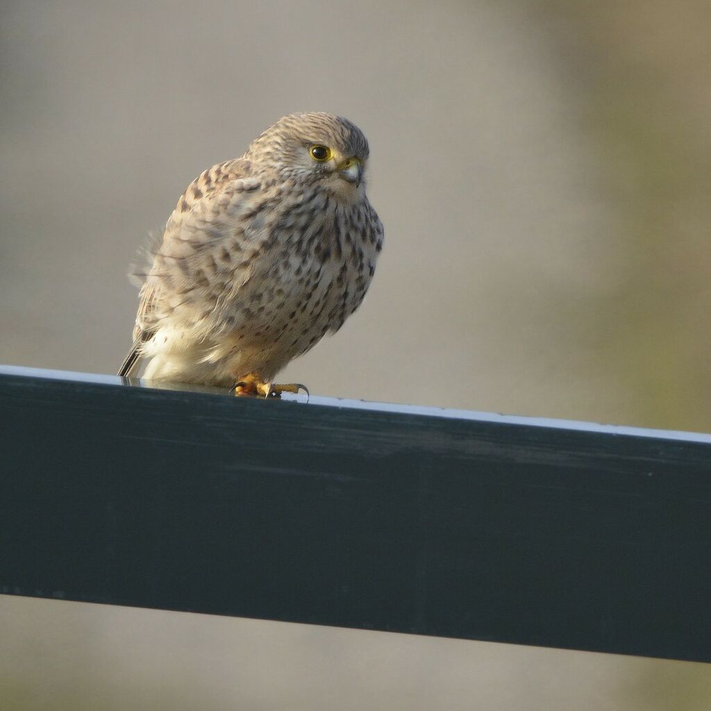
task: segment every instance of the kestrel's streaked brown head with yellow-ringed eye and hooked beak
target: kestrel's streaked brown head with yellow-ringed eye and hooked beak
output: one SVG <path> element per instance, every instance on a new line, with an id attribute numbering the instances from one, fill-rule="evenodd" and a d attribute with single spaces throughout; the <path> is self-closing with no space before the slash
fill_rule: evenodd
<path id="1" fill-rule="evenodd" d="M 368 141 L 355 124 L 324 113 L 289 114 L 252 141 L 245 158 L 256 169 L 318 184 L 345 201 L 365 193 Z"/>

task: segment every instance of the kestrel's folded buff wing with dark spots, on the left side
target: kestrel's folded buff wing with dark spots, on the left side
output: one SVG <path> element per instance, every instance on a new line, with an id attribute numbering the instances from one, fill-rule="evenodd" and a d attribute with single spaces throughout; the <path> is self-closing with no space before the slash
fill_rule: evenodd
<path id="1" fill-rule="evenodd" d="M 259 193 L 260 181 L 251 175 L 250 161 L 244 158 L 220 163 L 203 171 L 178 200 L 166 223 L 157 248 L 149 250 L 148 268 L 134 274 L 142 282 L 134 342 L 127 353 L 119 376 L 128 378 L 141 358 L 141 348 L 154 334 L 155 324 L 176 307 L 176 296 L 189 300 L 190 292 L 200 289 L 205 273 L 201 269 L 216 266 L 215 242 L 230 234 L 241 250 L 249 235 L 235 230 L 243 217 L 245 205 Z M 213 247 L 205 250 L 205 247 Z M 218 250 L 218 258 L 221 254 Z M 205 264 L 203 264 L 205 262 Z M 173 299 L 166 303 L 166 295 Z"/>

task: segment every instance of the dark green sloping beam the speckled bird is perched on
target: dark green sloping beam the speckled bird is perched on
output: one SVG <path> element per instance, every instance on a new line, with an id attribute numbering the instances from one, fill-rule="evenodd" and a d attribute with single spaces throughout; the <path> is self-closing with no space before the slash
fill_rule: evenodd
<path id="1" fill-rule="evenodd" d="M 80 377 L 0 371 L 0 592 L 711 661 L 707 435 Z"/>

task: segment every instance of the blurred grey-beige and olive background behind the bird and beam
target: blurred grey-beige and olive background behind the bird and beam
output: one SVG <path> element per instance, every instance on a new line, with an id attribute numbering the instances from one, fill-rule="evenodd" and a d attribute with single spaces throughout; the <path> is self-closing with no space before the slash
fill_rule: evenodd
<path id="1" fill-rule="evenodd" d="M 316 395 L 711 431 L 707 0 L 6 1 L 0 363 L 114 373 L 150 230 L 282 114 L 371 146 Z M 8 709 L 706 710 L 707 666 L 3 597 Z"/>

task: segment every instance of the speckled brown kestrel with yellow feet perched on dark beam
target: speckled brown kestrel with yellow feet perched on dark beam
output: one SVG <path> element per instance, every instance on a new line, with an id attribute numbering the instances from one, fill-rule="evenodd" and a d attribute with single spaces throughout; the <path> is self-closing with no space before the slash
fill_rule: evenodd
<path id="1" fill-rule="evenodd" d="M 304 387 L 273 380 L 358 309 L 383 248 L 369 154 L 348 119 L 296 113 L 195 178 L 139 274 L 118 375 L 145 362 L 144 380 L 240 396 Z"/>

